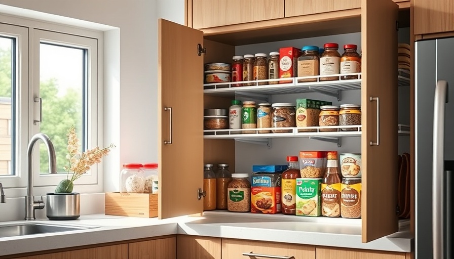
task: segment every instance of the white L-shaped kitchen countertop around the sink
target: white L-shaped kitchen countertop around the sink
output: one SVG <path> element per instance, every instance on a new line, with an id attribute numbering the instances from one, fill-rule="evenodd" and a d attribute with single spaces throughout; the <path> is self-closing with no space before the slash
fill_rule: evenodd
<path id="1" fill-rule="evenodd" d="M 0 222 L 0 227 L 24 222 Z M 204 212 L 202 217 L 182 216 L 166 220 L 93 214 L 82 215 L 75 221 L 43 219 L 33 222 L 94 228 L 0 238 L 0 256 L 173 234 L 396 252 L 410 252 L 413 242 L 408 221 L 400 224 L 398 233 L 361 243 L 361 220 L 228 211 Z"/>

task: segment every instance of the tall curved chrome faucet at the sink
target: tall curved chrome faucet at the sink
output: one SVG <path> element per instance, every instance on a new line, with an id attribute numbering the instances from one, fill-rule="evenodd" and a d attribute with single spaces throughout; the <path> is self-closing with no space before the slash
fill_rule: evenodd
<path id="1" fill-rule="evenodd" d="M 34 144 L 38 141 L 42 140 L 47 147 L 47 153 L 49 155 L 49 173 L 55 174 L 57 172 L 57 159 L 55 158 L 55 149 L 54 144 L 52 144 L 49 137 L 45 134 L 38 133 L 31 137 L 30 142 L 28 143 L 27 148 L 27 196 L 25 196 L 25 220 L 34 220 L 34 210 L 35 209 L 43 209 L 44 202 L 43 197 L 41 200 L 34 200 L 33 197 L 33 175 L 32 175 L 32 164 L 31 161 L 33 160 L 33 147 Z"/>

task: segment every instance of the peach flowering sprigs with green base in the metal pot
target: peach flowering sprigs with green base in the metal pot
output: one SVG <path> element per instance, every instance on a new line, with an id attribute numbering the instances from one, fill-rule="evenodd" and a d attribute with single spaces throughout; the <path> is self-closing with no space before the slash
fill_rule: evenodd
<path id="1" fill-rule="evenodd" d="M 68 130 L 68 154 L 66 159 L 68 160 L 69 166 L 65 166 L 65 170 L 68 171 L 67 177 L 58 183 L 55 188 L 55 193 L 71 193 L 74 187 L 74 181 L 82 177 L 93 164 L 101 162 L 103 156 L 108 155 L 110 149 L 115 145 L 105 148 L 95 147 L 89 149 L 83 153 L 80 152 L 80 143 L 75 133 L 75 127 L 71 126 Z M 72 174 L 71 174 L 72 172 Z"/>

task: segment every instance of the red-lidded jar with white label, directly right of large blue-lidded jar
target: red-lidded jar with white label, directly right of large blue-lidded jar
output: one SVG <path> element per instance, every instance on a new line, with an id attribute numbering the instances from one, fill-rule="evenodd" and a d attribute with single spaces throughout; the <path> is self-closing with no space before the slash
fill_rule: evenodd
<path id="1" fill-rule="evenodd" d="M 320 75 L 333 75 L 341 72 L 341 54 L 337 51 L 337 43 L 327 43 L 320 57 Z M 320 77 L 320 81 L 339 80 L 338 76 Z"/>

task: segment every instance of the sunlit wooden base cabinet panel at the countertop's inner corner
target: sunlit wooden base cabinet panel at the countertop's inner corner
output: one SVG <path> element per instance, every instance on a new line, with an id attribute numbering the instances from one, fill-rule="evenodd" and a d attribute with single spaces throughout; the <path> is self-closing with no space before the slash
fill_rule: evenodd
<path id="1" fill-rule="evenodd" d="M 178 235 L 176 256 L 177 259 L 221 259 L 221 239 Z"/>

